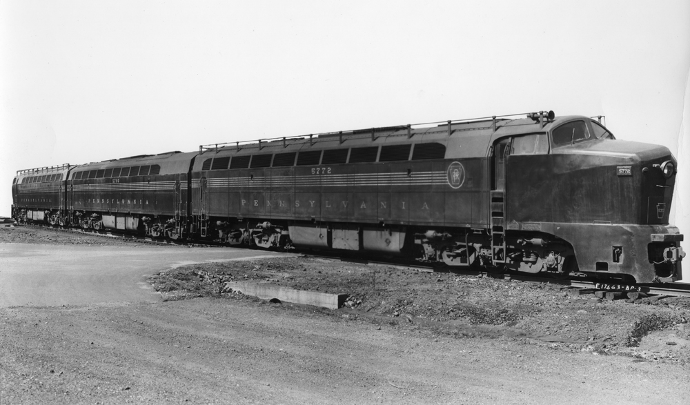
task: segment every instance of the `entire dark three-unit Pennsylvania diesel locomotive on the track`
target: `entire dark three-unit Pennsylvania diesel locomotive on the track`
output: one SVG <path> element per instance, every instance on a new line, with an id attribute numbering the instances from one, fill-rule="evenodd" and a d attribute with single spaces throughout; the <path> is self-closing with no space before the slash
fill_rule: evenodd
<path id="1" fill-rule="evenodd" d="M 19 170 L 17 221 L 626 283 L 682 278 L 676 159 L 552 111 Z"/>

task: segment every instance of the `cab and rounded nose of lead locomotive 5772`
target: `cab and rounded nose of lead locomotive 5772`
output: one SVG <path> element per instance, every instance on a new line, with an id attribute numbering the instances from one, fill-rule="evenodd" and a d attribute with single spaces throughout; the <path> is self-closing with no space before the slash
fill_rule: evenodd
<path id="1" fill-rule="evenodd" d="M 506 156 L 509 267 L 512 257 L 517 270 L 539 259 L 561 274 L 682 277 L 683 235 L 669 226 L 676 159 L 668 148 L 615 140 L 586 117 L 555 119 L 531 136 L 541 144 L 528 137 L 513 137 Z"/>

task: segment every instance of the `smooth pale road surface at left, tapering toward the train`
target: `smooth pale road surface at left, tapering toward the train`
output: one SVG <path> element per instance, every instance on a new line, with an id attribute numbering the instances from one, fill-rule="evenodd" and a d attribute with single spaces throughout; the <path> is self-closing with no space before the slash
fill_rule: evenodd
<path id="1" fill-rule="evenodd" d="M 26 230 L 18 230 L 26 232 Z M 45 232 L 45 231 L 43 231 Z M 271 257 L 248 249 L 122 244 L 0 244 L 0 307 L 160 302 L 146 278 L 206 261 Z"/>

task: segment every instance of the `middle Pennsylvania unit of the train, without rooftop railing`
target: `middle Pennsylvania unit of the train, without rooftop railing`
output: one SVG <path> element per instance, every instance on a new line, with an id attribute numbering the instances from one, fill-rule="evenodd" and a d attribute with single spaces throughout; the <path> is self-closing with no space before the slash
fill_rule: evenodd
<path id="1" fill-rule="evenodd" d="M 70 172 L 70 221 L 179 239 L 188 223 L 188 172 L 195 153 L 166 152 L 79 166 Z"/>

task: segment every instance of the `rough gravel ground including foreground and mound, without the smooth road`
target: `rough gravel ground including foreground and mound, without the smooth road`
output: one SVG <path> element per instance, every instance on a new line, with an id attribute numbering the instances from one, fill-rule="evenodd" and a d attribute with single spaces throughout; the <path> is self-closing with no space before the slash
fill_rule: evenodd
<path id="1" fill-rule="evenodd" d="M 139 246 L 37 228 L 0 228 L 2 243 Z M 244 280 L 348 301 L 270 304 L 226 286 Z M 0 308 L 0 404 L 685 404 L 690 392 L 688 299 L 607 302 L 313 257 L 150 282 L 162 304 Z"/>

